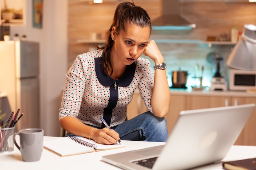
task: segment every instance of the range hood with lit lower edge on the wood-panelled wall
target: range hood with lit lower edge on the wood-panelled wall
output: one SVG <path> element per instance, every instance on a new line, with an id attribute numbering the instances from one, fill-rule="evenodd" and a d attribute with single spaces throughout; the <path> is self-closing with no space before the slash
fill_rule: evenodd
<path id="1" fill-rule="evenodd" d="M 191 24 L 180 16 L 179 0 L 162 0 L 162 16 L 151 22 L 153 30 L 191 30 Z"/>

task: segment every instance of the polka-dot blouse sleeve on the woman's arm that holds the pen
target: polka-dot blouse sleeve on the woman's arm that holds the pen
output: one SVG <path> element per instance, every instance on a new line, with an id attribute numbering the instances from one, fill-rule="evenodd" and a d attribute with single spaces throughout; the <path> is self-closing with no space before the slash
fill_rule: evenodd
<path id="1" fill-rule="evenodd" d="M 85 73 L 88 72 L 83 66 L 82 55 L 78 55 L 66 73 L 59 119 L 78 116 L 85 88 Z"/>

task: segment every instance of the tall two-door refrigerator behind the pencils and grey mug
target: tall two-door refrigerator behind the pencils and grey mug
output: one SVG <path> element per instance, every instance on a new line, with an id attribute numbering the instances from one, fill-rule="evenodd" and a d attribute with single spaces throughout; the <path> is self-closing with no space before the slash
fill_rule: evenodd
<path id="1" fill-rule="evenodd" d="M 2 102 L 5 123 L 19 108 L 24 115 L 15 125 L 17 131 L 40 128 L 38 42 L 0 41 L 0 93 L 7 94 Z"/>

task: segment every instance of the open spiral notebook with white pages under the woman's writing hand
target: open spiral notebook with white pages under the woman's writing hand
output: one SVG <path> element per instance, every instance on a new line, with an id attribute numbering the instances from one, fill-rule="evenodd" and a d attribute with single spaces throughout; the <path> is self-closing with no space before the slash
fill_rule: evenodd
<path id="1" fill-rule="evenodd" d="M 125 147 L 122 144 L 104 145 L 84 137 L 61 137 L 44 142 L 44 148 L 60 157 L 79 155 L 88 152 L 109 150 Z"/>

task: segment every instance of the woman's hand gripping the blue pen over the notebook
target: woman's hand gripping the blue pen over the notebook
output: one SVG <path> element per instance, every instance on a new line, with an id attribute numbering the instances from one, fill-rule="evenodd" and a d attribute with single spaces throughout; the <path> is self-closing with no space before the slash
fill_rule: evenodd
<path id="1" fill-rule="evenodd" d="M 117 141 L 120 139 L 119 134 L 115 130 L 110 130 L 108 128 L 95 128 L 94 130 L 92 130 L 90 138 L 99 144 L 106 145 L 116 144 Z"/>

